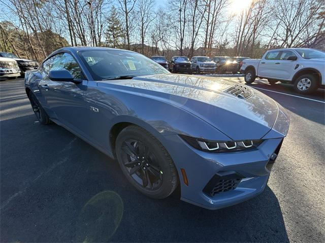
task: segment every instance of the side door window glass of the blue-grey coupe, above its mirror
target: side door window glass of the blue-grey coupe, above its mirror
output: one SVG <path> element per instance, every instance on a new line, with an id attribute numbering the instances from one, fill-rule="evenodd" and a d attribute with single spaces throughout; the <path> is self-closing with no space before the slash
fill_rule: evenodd
<path id="1" fill-rule="evenodd" d="M 80 66 L 69 53 L 59 53 L 53 56 L 50 70 L 68 70 L 74 79 L 82 79 Z"/>

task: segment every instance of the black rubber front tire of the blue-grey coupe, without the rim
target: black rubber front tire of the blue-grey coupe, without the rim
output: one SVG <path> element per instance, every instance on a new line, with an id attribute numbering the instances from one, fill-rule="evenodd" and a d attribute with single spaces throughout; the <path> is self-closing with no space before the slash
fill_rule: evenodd
<path id="1" fill-rule="evenodd" d="M 176 188 L 175 180 L 173 180 L 172 170 L 176 170 L 176 168 L 171 168 L 170 156 L 166 156 L 164 151 L 161 149 L 161 144 L 157 143 L 157 140 L 153 139 L 147 132 L 143 132 L 140 127 L 137 126 L 128 126 L 124 128 L 116 138 L 116 157 L 118 163 L 121 167 L 121 170 L 126 177 L 126 179 L 131 183 L 138 191 L 142 192 L 143 194 L 152 197 L 152 198 L 166 198 L 168 197 Z M 131 176 L 129 176 L 128 170 L 125 168 L 123 164 L 123 159 L 121 156 L 121 147 L 122 143 L 127 138 L 134 138 L 141 142 L 143 142 L 147 148 L 155 155 L 157 163 L 159 164 L 161 171 L 163 171 L 163 182 L 161 186 L 154 191 L 150 191 L 148 189 L 143 188 L 136 182 Z M 169 157 L 169 158 L 168 158 Z M 174 165 L 174 164 L 173 164 Z"/>

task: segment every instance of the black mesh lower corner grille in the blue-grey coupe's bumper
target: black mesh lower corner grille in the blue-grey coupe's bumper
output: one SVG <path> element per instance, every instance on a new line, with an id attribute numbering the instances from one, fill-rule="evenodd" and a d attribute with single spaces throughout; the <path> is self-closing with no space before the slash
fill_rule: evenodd
<path id="1" fill-rule="evenodd" d="M 219 171 L 204 187 L 203 192 L 213 197 L 218 193 L 234 190 L 243 178 L 236 171 Z"/>

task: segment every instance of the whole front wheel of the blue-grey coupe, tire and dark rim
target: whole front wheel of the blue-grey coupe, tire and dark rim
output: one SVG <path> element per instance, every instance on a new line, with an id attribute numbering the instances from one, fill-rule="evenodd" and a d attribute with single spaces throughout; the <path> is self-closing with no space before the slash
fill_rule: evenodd
<path id="1" fill-rule="evenodd" d="M 148 131 L 127 126 L 118 134 L 115 147 L 124 176 L 146 196 L 166 198 L 177 188 L 178 175 L 172 158 Z"/>

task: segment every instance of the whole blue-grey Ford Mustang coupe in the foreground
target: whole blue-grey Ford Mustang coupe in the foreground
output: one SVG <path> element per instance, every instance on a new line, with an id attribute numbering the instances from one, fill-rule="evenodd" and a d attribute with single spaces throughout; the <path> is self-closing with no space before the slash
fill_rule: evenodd
<path id="1" fill-rule="evenodd" d="M 116 159 L 152 198 L 219 209 L 261 193 L 289 128 L 273 99 L 221 78 L 176 75 L 138 53 L 67 47 L 25 75 L 51 121 Z"/>

